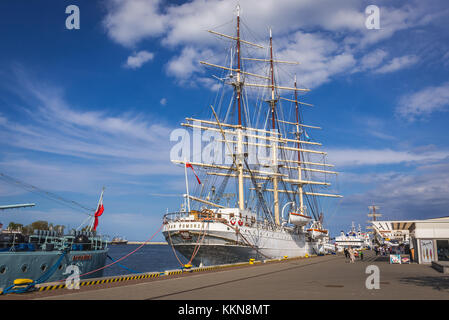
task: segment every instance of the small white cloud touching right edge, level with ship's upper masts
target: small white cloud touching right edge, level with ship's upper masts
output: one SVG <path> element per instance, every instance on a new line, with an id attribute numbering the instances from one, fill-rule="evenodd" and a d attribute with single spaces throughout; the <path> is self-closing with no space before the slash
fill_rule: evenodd
<path id="1" fill-rule="evenodd" d="M 430 86 L 399 99 L 396 114 L 409 121 L 427 117 L 436 111 L 449 107 L 449 82 L 440 86 Z"/>

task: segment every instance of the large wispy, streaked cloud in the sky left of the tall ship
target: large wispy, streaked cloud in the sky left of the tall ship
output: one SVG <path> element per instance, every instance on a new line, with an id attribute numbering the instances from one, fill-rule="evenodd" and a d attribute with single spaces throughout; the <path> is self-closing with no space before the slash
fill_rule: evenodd
<path id="1" fill-rule="evenodd" d="M 0 116 L 0 143 L 10 150 L 0 159 L 6 173 L 18 172 L 43 188 L 69 191 L 87 186 L 92 191 L 130 176 L 182 174 L 170 163 L 172 128 L 156 116 L 150 120 L 129 111 L 80 111 L 65 100 L 63 89 L 42 86 L 29 74 L 18 76 L 15 88 L 23 101 L 18 109 L 21 121 Z M 26 156 L 30 152 L 32 158 Z"/>

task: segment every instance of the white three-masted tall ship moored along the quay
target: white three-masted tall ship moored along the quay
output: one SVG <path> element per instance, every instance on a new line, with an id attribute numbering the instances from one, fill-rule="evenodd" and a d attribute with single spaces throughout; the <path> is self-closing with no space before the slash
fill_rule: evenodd
<path id="1" fill-rule="evenodd" d="M 274 58 L 271 29 L 264 47 L 241 38 L 239 7 L 236 25 L 233 36 L 209 31 L 231 43 L 225 66 L 200 61 L 222 73 L 214 76 L 222 84 L 220 103 L 210 106 L 209 118 L 182 123 L 193 130 L 193 159 L 190 141 L 184 144 L 187 152 L 171 159 L 184 166 L 187 193 L 180 211 L 164 215 L 163 234 L 195 265 L 325 253 L 333 246 L 322 202 L 341 195 L 330 193 L 329 178 L 337 172 L 330 171 L 321 143 L 306 132 L 321 128 L 303 123 L 302 108 L 312 105 L 298 93 L 309 89 L 298 88 L 296 76 L 290 78 L 293 86 L 278 81 L 276 67 L 297 62 Z M 268 49 L 262 58 L 254 54 L 261 49 Z M 283 97 L 284 92 L 291 95 Z M 223 103 L 227 95 L 229 103 Z M 210 142 L 203 152 L 197 148 L 201 141 Z M 198 182 L 193 192 L 190 169 Z"/>

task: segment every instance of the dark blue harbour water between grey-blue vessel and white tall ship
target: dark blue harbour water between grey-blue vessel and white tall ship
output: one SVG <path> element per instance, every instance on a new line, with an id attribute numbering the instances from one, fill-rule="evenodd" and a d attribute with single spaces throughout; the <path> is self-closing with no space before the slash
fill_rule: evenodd
<path id="1" fill-rule="evenodd" d="M 110 245 L 109 256 L 114 260 L 118 260 L 139 246 L 137 244 Z M 177 253 L 177 255 L 182 263 L 186 263 L 185 258 L 181 254 Z M 106 264 L 110 263 L 112 261 L 108 258 Z M 120 267 L 118 264 L 136 272 L 165 271 L 180 268 L 180 264 L 173 254 L 171 246 L 163 244 L 142 246 L 142 248 L 129 257 L 104 269 L 103 276 L 108 277 L 133 273 L 130 270 Z"/>

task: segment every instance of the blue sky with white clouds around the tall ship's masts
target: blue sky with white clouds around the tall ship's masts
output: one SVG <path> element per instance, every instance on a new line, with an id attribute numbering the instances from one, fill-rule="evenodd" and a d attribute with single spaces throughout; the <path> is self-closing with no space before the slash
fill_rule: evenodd
<path id="1" fill-rule="evenodd" d="M 0 172 L 95 207 L 99 230 L 145 240 L 179 208 L 183 169 L 170 133 L 208 112 L 213 78 L 198 60 L 220 58 L 236 1 L 25 1 L 0 3 Z M 68 30 L 65 9 L 80 9 Z M 380 8 L 380 30 L 365 8 Z M 306 122 L 340 172 L 333 234 L 384 218 L 448 215 L 449 6 L 445 1 L 240 1 L 257 39 L 311 88 Z M 194 177 L 190 177 L 194 179 Z M 192 180 L 194 183 L 194 180 Z M 85 215 L 0 181 L 1 222 L 78 226 Z M 162 240 L 158 235 L 157 240 Z"/>

